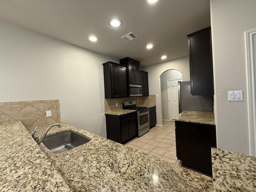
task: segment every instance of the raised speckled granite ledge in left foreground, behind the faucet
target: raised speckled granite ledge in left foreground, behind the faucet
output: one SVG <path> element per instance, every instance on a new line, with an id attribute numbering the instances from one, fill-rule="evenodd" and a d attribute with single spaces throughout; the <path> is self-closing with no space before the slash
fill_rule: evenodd
<path id="1" fill-rule="evenodd" d="M 71 191 L 20 121 L 0 124 L 0 191 Z"/>

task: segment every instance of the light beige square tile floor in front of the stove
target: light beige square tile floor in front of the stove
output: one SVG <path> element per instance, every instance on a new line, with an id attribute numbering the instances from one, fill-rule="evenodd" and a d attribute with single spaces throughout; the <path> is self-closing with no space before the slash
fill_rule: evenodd
<path id="1" fill-rule="evenodd" d="M 124 145 L 161 160 L 181 165 L 181 161 L 177 160 L 176 157 L 175 124 L 173 121 L 164 121 L 162 127 L 154 126 L 140 138 L 136 137 Z"/>

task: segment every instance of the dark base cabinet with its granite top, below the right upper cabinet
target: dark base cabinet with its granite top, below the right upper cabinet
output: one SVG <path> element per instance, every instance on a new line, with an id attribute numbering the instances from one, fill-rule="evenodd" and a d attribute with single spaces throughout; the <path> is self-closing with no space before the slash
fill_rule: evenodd
<path id="1" fill-rule="evenodd" d="M 173 120 L 176 154 L 182 166 L 212 176 L 211 148 L 216 148 L 214 113 L 185 110 Z"/>

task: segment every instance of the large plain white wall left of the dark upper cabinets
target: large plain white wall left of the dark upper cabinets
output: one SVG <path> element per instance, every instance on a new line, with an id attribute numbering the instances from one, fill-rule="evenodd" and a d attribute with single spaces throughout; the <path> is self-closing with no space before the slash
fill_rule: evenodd
<path id="1" fill-rule="evenodd" d="M 63 122 L 106 137 L 102 63 L 119 61 L 2 21 L 0 29 L 0 102 L 59 99 Z"/>

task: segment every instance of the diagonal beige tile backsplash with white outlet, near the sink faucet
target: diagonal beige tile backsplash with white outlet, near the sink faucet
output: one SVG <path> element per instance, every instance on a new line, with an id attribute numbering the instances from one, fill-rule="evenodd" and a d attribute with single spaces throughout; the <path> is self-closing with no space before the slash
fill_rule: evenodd
<path id="1" fill-rule="evenodd" d="M 46 111 L 51 110 L 51 117 Z M 0 122 L 20 120 L 26 128 L 60 121 L 59 100 L 0 102 Z"/>

